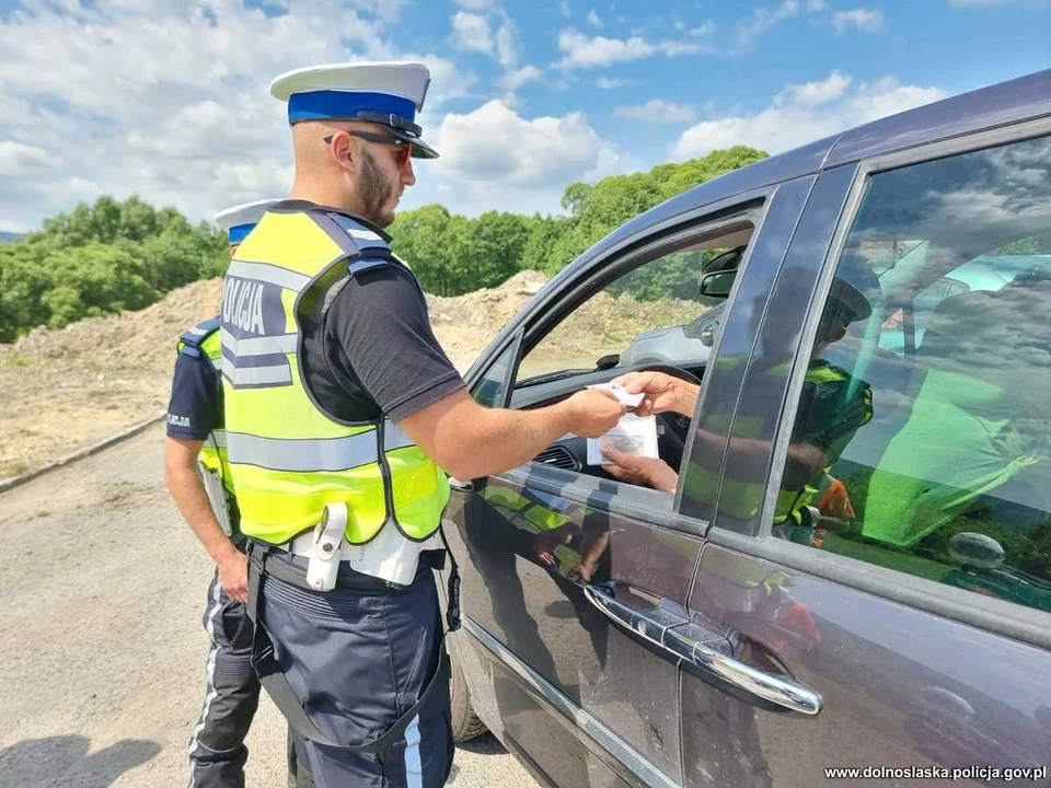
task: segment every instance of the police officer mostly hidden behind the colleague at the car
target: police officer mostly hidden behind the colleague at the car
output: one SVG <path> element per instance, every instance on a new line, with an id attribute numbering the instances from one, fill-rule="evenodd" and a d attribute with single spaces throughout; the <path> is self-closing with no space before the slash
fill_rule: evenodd
<path id="1" fill-rule="evenodd" d="M 238 206 L 216 217 L 227 230 L 231 255 L 274 201 Z M 259 681 L 251 662 L 252 624 L 244 609 L 247 560 L 222 429 L 218 318 L 183 334 L 177 350 L 168 408 L 165 479 L 216 563 L 205 606 L 211 646 L 205 703 L 189 742 L 190 785 L 229 788 L 244 785 L 244 738 L 259 702 Z"/>

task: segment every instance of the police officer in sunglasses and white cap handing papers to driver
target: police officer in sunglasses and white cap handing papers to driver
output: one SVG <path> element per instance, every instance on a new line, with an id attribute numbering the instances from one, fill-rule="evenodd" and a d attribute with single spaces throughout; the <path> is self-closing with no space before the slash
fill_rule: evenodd
<path id="1" fill-rule="evenodd" d="M 255 662 L 322 787 L 439 786 L 449 774 L 431 571 L 444 558 L 442 471 L 471 479 L 510 468 L 566 432 L 602 434 L 624 413 L 594 390 L 528 412 L 467 395 L 384 232 L 416 182 L 414 160 L 438 155 L 415 120 L 429 83 L 420 63 L 275 80 L 296 178 L 223 288 L 227 440 L 251 540 Z"/>

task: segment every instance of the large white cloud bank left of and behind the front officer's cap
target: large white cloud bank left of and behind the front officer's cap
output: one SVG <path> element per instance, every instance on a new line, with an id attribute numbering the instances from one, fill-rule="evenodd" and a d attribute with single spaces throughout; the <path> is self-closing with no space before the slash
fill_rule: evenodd
<path id="1" fill-rule="evenodd" d="M 390 42 L 399 2 L 312 0 L 277 16 L 241 0 L 66 5 L 25 2 L 0 16 L 0 169 L 18 174 L 0 188 L 0 216 L 16 229 L 100 194 L 138 194 L 196 221 L 286 193 L 288 125 L 267 84 L 301 67 L 304 51 L 309 62 L 426 62 L 425 116 L 440 117 L 476 81 L 448 58 Z M 45 131 L 76 155 L 45 165 L 58 161 L 39 150 Z"/>

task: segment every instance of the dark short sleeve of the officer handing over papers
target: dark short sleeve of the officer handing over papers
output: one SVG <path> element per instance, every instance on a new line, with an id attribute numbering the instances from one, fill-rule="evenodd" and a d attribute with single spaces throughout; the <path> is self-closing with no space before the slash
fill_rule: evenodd
<path id="1" fill-rule="evenodd" d="M 359 380 L 395 421 L 464 385 L 435 337 L 415 277 L 397 263 L 351 277 L 328 308 L 325 332 L 336 348 L 330 363 Z"/>

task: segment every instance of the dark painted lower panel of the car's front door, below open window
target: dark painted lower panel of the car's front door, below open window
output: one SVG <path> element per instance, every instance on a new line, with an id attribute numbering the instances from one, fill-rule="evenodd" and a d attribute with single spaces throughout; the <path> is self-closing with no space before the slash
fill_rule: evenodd
<path id="1" fill-rule="evenodd" d="M 601 742 L 581 743 L 566 737 L 557 719 L 541 719 L 584 717 L 678 784 L 675 664 L 612 625 L 585 598 L 584 586 L 620 582 L 684 605 L 700 540 L 559 498 L 523 474 L 453 493 L 443 522 L 461 567 L 472 647 L 493 662 L 481 629 L 568 702 L 567 710 L 529 700 L 528 683 L 499 661 L 488 676 L 469 675 L 472 694 L 497 709 L 504 735 L 555 784 L 601 785 L 597 773 L 604 767 L 594 755 Z M 585 579 L 574 570 L 592 552 L 597 563 Z M 627 769 L 622 778 L 639 775 Z"/>

